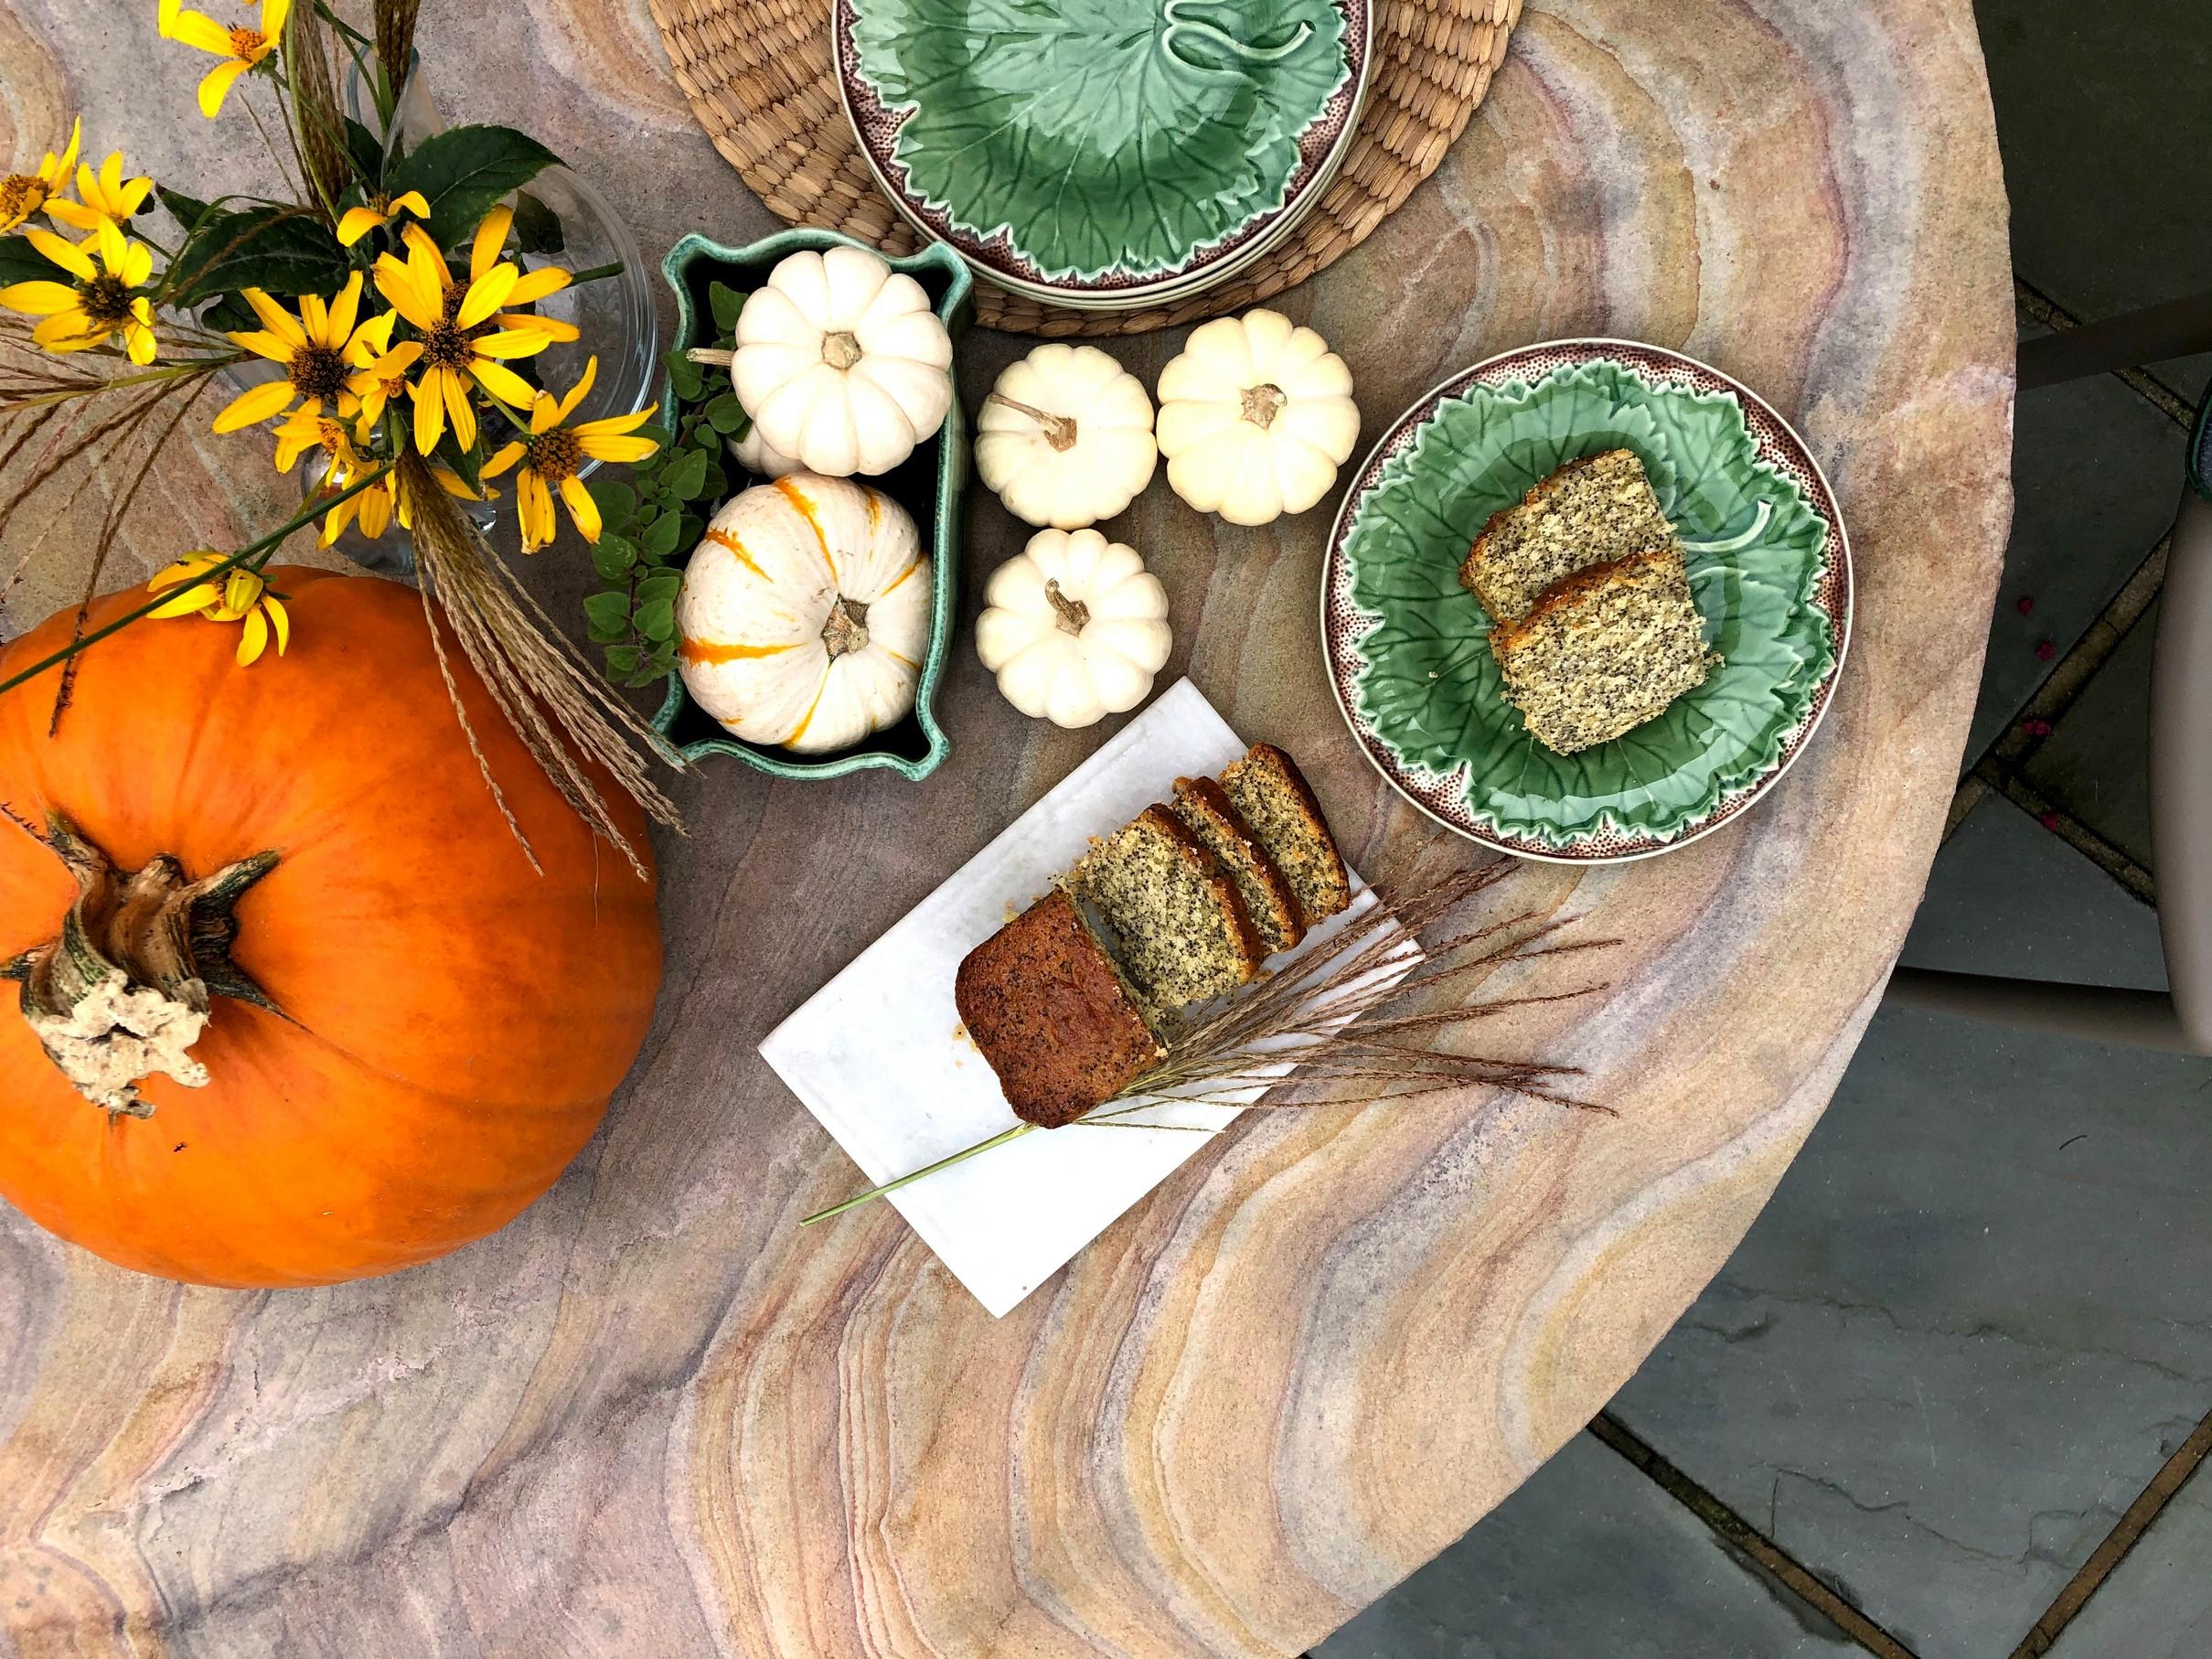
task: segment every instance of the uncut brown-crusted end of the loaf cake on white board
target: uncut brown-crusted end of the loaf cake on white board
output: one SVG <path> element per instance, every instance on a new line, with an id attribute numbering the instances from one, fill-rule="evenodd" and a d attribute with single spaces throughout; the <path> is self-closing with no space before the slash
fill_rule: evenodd
<path id="1" fill-rule="evenodd" d="M 1161 1055 L 1135 993 L 1057 887 L 967 953 L 953 1002 L 1015 1115 L 1073 1124 Z"/>

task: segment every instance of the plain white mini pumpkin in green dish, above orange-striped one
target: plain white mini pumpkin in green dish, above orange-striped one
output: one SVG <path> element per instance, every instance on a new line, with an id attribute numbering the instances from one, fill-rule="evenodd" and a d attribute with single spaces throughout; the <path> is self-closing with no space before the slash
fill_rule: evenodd
<path id="1" fill-rule="evenodd" d="M 737 314 L 730 383 L 763 445 L 814 473 L 885 473 L 945 425 L 953 343 L 867 248 L 776 261 Z"/>

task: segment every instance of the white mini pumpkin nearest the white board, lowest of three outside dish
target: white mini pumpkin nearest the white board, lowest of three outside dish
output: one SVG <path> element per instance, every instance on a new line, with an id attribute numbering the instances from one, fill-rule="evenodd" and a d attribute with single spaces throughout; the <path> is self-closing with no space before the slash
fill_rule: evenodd
<path id="1" fill-rule="evenodd" d="M 975 619 L 975 655 L 1006 701 L 1068 728 L 1150 697 L 1172 646 L 1168 591 L 1097 531 L 1031 535 L 991 573 Z"/>

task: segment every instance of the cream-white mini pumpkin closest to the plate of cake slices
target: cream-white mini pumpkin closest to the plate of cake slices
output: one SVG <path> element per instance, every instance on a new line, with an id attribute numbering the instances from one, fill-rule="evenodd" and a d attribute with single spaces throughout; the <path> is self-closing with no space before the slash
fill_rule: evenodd
<path id="1" fill-rule="evenodd" d="M 1358 436 L 1352 369 L 1281 312 L 1217 316 L 1159 372 L 1168 487 L 1230 524 L 1303 513 L 1329 493 Z"/>

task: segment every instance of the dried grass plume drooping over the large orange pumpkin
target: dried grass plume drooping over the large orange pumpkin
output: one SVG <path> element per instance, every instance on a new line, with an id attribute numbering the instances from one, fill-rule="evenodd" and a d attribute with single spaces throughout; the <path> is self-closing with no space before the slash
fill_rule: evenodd
<path id="1" fill-rule="evenodd" d="M 684 759 L 591 670 L 582 653 L 568 644 L 568 637 L 551 624 L 538 602 L 493 555 L 482 533 L 460 513 L 414 449 L 398 460 L 398 484 L 414 515 L 416 568 L 425 611 L 436 599 L 462 655 L 484 681 L 491 701 L 498 703 L 500 714 L 507 717 L 531 759 L 538 761 L 562 799 L 597 834 L 619 847 L 630 867 L 644 876 L 646 867 L 637 847 L 622 834 L 586 763 L 597 761 L 653 818 L 670 830 L 681 830 L 684 821 L 675 803 L 653 783 L 637 743 L 679 770 Z M 469 737 L 469 748 L 476 752 L 478 770 L 482 770 L 493 801 L 500 803 L 500 812 L 535 867 L 538 858 L 509 812 L 507 799 L 476 743 L 476 732 L 469 728 L 469 714 L 460 703 L 438 635 L 438 617 L 434 617 L 431 641 L 438 646 L 438 666 L 445 672 L 447 692 L 453 697 L 453 714 Z"/>

